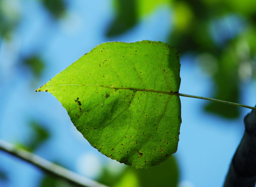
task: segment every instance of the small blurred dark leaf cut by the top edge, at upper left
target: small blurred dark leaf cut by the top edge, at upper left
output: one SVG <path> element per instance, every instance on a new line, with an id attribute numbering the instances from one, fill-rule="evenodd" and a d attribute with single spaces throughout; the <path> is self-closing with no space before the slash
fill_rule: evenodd
<path id="1" fill-rule="evenodd" d="M 55 18 L 60 18 L 66 9 L 64 0 L 41 0 Z"/>

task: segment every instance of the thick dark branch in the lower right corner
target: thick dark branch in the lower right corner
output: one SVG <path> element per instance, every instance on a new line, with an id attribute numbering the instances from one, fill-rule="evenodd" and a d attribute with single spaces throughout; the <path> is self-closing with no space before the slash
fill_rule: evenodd
<path id="1" fill-rule="evenodd" d="M 224 187 L 255 187 L 256 183 L 256 111 L 244 117 L 243 139 L 229 166 Z"/>

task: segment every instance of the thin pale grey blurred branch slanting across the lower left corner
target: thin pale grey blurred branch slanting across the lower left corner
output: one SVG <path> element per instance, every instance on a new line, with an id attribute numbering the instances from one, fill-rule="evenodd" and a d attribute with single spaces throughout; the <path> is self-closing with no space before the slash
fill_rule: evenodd
<path id="1" fill-rule="evenodd" d="M 86 187 L 106 187 L 103 184 L 100 184 L 92 179 L 86 178 L 84 176 L 78 175 L 73 171 L 70 171 L 66 168 L 63 168 L 57 164 L 49 162 L 37 155 L 34 155 L 26 150 L 23 150 L 19 147 L 16 147 L 8 142 L 0 140 L 0 150 L 7 152 L 11 155 L 14 155 L 26 162 L 29 162 L 44 171 L 58 176 L 62 179 L 67 180 L 69 183 L 76 184 L 77 186 L 86 186 Z"/>

